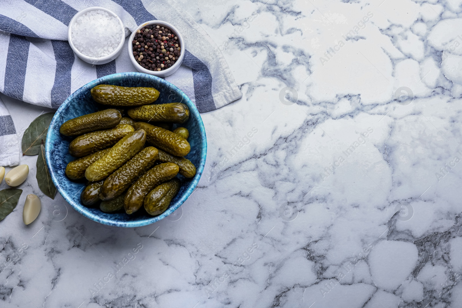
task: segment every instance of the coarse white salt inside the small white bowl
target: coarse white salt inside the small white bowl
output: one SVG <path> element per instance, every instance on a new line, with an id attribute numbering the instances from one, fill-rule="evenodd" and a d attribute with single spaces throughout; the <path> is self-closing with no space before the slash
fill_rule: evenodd
<path id="1" fill-rule="evenodd" d="M 82 54 L 100 58 L 112 54 L 122 42 L 122 27 L 108 12 L 90 11 L 72 25 L 71 39 Z"/>

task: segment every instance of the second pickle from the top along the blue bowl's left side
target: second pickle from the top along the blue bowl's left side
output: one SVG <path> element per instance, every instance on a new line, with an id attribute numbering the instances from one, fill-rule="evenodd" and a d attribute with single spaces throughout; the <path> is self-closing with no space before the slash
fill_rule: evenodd
<path id="1" fill-rule="evenodd" d="M 134 128 L 131 125 L 119 124 L 111 129 L 86 133 L 72 140 L 69 144 L 69 154 L 73 157 L 90 155 L 115 145 L 117 141 L 132 132 Z"/>

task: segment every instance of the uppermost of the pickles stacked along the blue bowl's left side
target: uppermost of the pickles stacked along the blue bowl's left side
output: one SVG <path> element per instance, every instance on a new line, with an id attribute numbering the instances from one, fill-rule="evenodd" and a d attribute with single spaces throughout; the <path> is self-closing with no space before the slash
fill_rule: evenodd
<path id="1" fill-rule="evenodd" d="M 106 109 L 68 120 L 61 125 L 59 131 L 65 136 L 78 136 L 115 127 L 121 118 L 122 115 L 116 109 Z"/>

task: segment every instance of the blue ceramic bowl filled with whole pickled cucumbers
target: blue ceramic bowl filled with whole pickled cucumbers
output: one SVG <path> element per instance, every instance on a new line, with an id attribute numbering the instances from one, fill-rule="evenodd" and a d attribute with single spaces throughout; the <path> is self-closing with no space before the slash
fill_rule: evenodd
<path id="1" fill-rule="evenodd" d="M 99 223 L 139 227 L 188 199 L 204 169 L 207 139 L 194 103 L 175 85 L 122 72 L 69 96 L 51 121 L 45 148 L 52 181 L 76 211 Z"/>

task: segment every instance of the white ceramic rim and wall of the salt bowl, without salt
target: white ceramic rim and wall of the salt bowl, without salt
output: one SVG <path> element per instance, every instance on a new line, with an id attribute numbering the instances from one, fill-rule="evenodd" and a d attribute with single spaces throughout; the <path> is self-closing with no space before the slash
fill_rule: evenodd
<path id="1" fill-rule="evenodd" d="M 117 18 L 117 20 L 120 23 L 121 29 L 122 29 L 122 40 L 119 43 L 119 45 L 117 46 L 116 50 L 114 50 L 114 52 L 112 54 L 108 54 L 108 55 L 106 55 L 104 57 L 95 58 L 95 57 L 89 57 L 89 56 L 87 56 L 85 54 L 82 54 L 79 51 L 79 49 L 77 49 L 74 46 L 74 44 L 72 42 L 72 26 L 73 26 L 73 24 L 75 24 L 75 22 L 77 21 L 77 18 L 79 18 L 80 16 L 84 15 L 87 12 L 98 11 L 98 10 L 107 12 L 110 16 L 113 16 L 113 17 Z M 67 28 L 67 40 L 69 41 L 69 45 L 71 45 L 71 48 L 74 51 L 74 53 L 77 54 L 77 56 L 80 59 L 82 59 L 85 62 L 90 63 L 90 64 L 105 64 L 105 63 L 108 63 L 108 62 L 116 59 L 117 56 L 121 53 L 122 48 L 123 48 L 123 43 L 125 42 L 125 30 L 124 30 L 122 20 L 119 18 L 119 16 L 116 15 L 116 13 L 112 12 L 111 10 L 108 10 L 107 8 L 101 7 L 101 6 L 91 6 L 91 7 L 87 7 L 86 9 L 83 9 L 82 11 L 78 12 L 71 19 L 71 22 L 69 23 L 69 27 Z"/>

